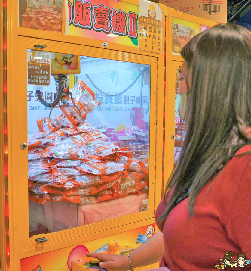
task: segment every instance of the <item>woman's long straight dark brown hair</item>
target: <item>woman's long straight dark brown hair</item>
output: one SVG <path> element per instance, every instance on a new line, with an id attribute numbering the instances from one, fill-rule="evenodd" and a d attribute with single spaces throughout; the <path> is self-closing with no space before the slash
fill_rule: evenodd
<path id="1" fill-rule="evenodd" d="M 200 190 L 236 151 L 250 143 L 251 35 L 234 24 L 200 33 L 181 51 L 190 66 L 188 129 L 179 163 L 168 182 L 173 194 L 159 217 L 164 221 L 189 189 L 188 213 Z M 162 224 L 164 225 L 164 223 Z"/>

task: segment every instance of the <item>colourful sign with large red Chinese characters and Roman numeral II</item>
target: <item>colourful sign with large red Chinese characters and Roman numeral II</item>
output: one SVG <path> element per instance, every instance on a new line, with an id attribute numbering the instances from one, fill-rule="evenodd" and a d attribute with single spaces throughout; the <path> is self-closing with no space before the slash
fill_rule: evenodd
<path id="1" fill-rule="evenodd" d="M 108 48 L 109 42 L 138 47 L 138 5 L 122 0 L 69 0 L 67 10 L 69 35 L 100 40 Z"/>

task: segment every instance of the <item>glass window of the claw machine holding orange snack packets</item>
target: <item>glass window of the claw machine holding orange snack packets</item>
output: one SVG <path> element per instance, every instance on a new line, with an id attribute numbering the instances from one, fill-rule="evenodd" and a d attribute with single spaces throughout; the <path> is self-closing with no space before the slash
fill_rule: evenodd
<path id="1" fill-rule="evenodd" d="M 29 236 L 147 210 L 150 66 L 33 50 L 27 63 Z"/>

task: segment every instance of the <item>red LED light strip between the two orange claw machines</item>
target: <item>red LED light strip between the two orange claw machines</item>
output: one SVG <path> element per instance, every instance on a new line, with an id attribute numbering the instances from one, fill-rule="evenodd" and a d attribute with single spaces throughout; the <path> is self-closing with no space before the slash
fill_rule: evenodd
<path id="1" fill-rule="evenodd" d="M 162 152 L 162 189 L 161 198 L 164 197 L 164 169 L 165 169 L 165 115 L 166 115 L 166 29 L 167 17 L 165 17 L 165 42 L 164 42 L 164 111 L 163 111 L 163 152 Z"/>

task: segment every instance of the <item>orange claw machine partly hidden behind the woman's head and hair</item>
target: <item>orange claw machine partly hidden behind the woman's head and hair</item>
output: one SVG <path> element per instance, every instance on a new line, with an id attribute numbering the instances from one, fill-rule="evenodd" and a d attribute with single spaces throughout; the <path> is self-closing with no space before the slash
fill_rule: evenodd
<path id="1" fill-rule="evenodd" d="M 168 6 L 166 7 L 169 10 Z M 165 154 L 164 154 L 164 185 L 166 186 L 169 176 L 173 168 L 179 161 L 179 156 L 182 150 L 182 145 L 185 140 L 186 123 L 179 115 L 180 95 L 179 70 L 182 66 L 183 58 L 180 54 L 182 48 L 195 35 L 207 30 L 217 23 L 206 20 L 191 14 L 187 14 L 177 10 L 170 10 L 166 19 L 166 65 L 167 74 L 165 88 Z M 174 121 L 175 120 L 175 121 Z"/>

